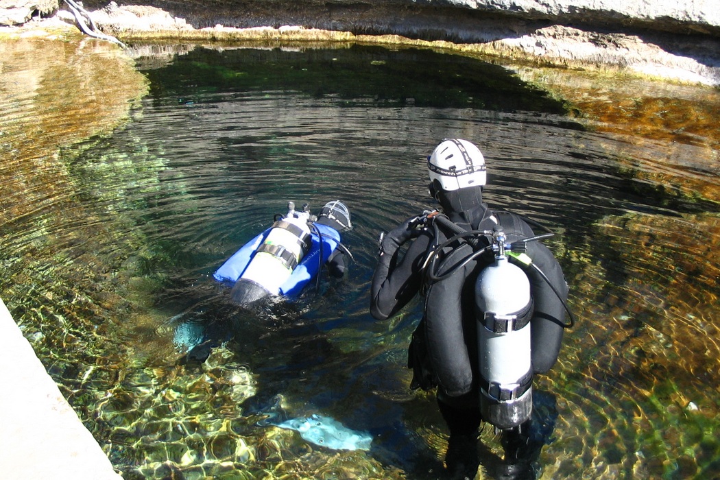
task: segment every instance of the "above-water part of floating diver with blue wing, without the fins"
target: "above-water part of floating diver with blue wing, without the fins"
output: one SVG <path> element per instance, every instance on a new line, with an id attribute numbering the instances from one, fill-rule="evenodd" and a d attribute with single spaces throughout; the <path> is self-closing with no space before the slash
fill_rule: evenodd
<path id="1" fill-rule="evenodd" d="M 297 296 L 310 281 L 319 281 L 323 265 L 330 276 L 343 276 L 352 258 L 341 243 L 341 232 L 352 228 L 345 204 L 329 201 L 315 218 L 307 204 L 298 212 L 289 201 L 287 214 L 278 217 L 215 271 L 217 281 L 233 285 L 233 302 Z"/>

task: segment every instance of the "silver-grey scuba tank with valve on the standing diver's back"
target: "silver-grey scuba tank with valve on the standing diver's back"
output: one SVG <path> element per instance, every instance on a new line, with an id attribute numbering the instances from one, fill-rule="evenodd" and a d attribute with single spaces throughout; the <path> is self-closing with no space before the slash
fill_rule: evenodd
<path id="1" fill-rule="evenodd" d="M 480 412 L 483 420 L 508 430 L 532 412 L 530 281 L 508 261 L 502 227 L 493 232 L 495 263 L 475 283 Z"/>

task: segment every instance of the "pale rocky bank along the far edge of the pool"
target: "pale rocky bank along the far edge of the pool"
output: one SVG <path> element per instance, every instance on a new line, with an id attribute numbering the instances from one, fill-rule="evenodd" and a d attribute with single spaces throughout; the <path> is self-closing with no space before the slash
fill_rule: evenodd
<path id="1" fill-rule="evenodd" d="M 557 4 L 553 9 L 546 6 L 539 11 L 531 8 L 536 5 L 527 5 L 533 4 L 529 0 L 491 11 L 487 6 L 479 8 L 477 2 L 474 9 L 467 1 L 460 3 L 410 7 L 402 3 L 338 1 L 322 5 L 310 2 L 292 8 L 282 2 L 258 1 L 243 3 L 242 9 L 233 11 L 228 4 L 202 9 L 185 1 L 172 4 L 172 9 L 161 9 L 113 1 L 105 5 L 89 3 L 86 8 L 99 31 L 123 42 L 264 40 L 418 45 L 514 62 L 720 86 L 720 14 L 712 16 L 702 9 L 665 16 L 662 10 L 654 14 L 598 12 L 582 5 L 575 9 L 565 5 L 563 10 Z M 704 3 L 698 0 L 693 5 Z M 77 33 L 76 18 L 67 4 L 56 9 L 35 8 L 35 17 L 29 21 L 0 27 L 0 38 Z M 37 12 L 41 8 L 50 9 L 52 16 L 40 19 Z M 0 22 L 6 17 L 0 15 Z"/>

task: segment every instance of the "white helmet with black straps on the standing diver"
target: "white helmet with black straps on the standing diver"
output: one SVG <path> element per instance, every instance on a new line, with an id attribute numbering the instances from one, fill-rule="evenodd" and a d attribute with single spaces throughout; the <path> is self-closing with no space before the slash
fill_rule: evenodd
<path id="1" fill-rule="evenodd" d="M 487 180 L 485 158 L 471 142 L 446 138 L 428 157 L 430 181 L 438 181 L 444 191 L 483 186 Z"/>

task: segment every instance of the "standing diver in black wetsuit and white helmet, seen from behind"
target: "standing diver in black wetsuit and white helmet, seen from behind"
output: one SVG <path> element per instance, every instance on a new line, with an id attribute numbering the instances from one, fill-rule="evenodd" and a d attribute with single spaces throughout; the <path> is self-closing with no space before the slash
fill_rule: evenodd
<path id="1" fill-rule="evenodd" d="M 408 351 L 410 387 L 437 387 L 450 431 L 446 467 L 472 478 L 481 420 L 504 433 L 527 427 L 533 375 L 552 368 L 570 326 L 567 284 L 538 241 L 552 233 L 535 235 L 525 219 L 482 202 L 485 159 L 477 146 L 443 140 L 427 165 L 442 212 L 380 235 L 370 312 L 385 320 L 424 296 Z"/>

